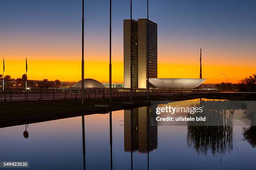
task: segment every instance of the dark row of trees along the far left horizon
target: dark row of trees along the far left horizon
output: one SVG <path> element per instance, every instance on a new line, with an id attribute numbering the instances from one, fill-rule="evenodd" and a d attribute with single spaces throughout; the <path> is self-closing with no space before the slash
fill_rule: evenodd
<path id="1" fill-rule="evenodd" d="M 3 75 L 0 74 L 1 85 L 3 85 Z M 4 77 L 5 87 L 26 87 L 26 83 L 21 78 L 12 78 L 10 75 L 5 75 Z M 48 79 L 44 79 L 42 81 L 33 81 L 27 80 L 27 87 L 40 87 L 47 86 L 52 87 L 53 85 L 61 85 L 60 80 L 49 81 Z"/>

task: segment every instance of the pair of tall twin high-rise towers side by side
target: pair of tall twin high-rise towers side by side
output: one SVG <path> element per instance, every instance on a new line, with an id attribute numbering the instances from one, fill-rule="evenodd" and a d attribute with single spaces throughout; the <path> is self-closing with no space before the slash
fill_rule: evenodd
<path id="1" fill-rule="evenodd" d="M 131 27 L 132 23 L 132 27 Z M 148 29 L 148 35 L 147 35 Z M 132 58 L 131 58 L 132 33 Z M 147 41 L 148 40 L 148 41 Z M 148 49 L 147 49 L 148 42 Z M 157 24 L 147 19 L 123 21 L 124 87 L 146 88 L 147 52 L 149 78 L 157 78 Z M 132 60 L 132 62 L 131 62 Z"/>

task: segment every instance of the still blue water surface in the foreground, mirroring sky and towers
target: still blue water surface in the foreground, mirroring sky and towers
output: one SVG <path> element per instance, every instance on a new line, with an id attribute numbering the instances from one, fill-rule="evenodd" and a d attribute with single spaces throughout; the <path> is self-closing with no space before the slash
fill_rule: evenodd
<path id="1" fill-rule="evenodd" d="M 1 128 L 0 160 L 29 161 L 31 170 L 256 167 L 255 126 L 151 126 L 147 114 L 140 107 Z"/>

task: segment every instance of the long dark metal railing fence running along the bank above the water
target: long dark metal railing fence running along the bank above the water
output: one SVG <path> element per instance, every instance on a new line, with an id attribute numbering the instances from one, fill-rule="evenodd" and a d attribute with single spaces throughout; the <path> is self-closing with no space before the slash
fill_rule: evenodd
<path id="1" fill-rule="evenodd" d="M 221 92 L 220 90 L 160 90 L 150 89 L 150 95 L 169 96 L 169 95 L 188 95 L 201 94 L 210 92 Z M 134 89 L 133 96 L 146 96 L 147 90 Z M 84 98 L 107 98 L 109 97 L 109 89 L 86 88 L 84 89 Z M 114 88 L 112 89 L 112 97 L 130 97 L 130 89 Z M 81 98 L 80 89 L 30 89 L 25 91 L 20 89 L 7 89 L 0 91 L 0 101 L 15 100 L 56 100 L 56 99 L 78 99 Z"/>

